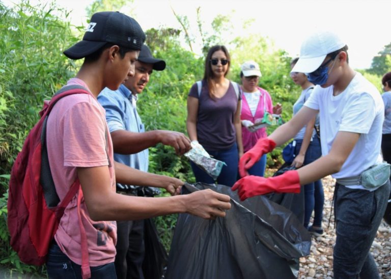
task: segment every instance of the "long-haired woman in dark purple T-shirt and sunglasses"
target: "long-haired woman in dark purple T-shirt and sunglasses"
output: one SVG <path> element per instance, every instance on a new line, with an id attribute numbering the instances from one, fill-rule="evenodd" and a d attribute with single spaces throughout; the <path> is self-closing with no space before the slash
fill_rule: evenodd
<path id="1" fill-rule="evenodd" d="M 226 163 L 217 183 L 232 187 L 243 154 L 240 124 L 241 91 L 226 78 L 230 54 L 223 45 L 209 49 L 204 78 L 194 83 L 187 97 L 187 132 L 215 159 Z M 197 182 L 214 183 L 212 177 L 191 162 Z"/>

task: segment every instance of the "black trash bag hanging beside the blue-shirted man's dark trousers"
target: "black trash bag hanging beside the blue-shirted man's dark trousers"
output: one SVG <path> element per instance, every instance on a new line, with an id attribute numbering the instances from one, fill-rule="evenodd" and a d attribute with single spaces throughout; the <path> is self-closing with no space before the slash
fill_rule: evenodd
<path id="1" fill-rule="evenodd" d="M 146 279 L 160 279 L 165 271 L 169 256 L 160 242 L 152 219 L 144 220 L 145 256 L 143 273 Z"/>

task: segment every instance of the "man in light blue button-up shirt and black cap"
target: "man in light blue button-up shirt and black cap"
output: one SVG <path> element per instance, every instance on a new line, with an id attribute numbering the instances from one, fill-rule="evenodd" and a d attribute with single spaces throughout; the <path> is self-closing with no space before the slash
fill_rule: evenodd
<path id="1" fill-rule="evenodd" d="M 148 148 L 158 143 L 175 148 L 178 155 L 190 150 L 190 141 L 174 131 L 154 130 L 146 132 L 136 109 L 137 94 L 142 93 L 153 70 L 162 71 L 163 60 L 152 57 L 150 49 L 143 45 L 134 76 L 129 77 L 117 91 L 105 88 L 98 101 L 106 110 L 106 121 L 113 139 L 114 159 L 132 168 L 148 172 Z M 140 187 L 117 184 L 117 191 L 137 196 Z M 156 192 L 149 187 L 149 192 Z M 175 194 L 175 189 L 167 189 Z M 144 278 L 144 221 L 118 221 L 117 256 L 115 260 L 118 278 Z"/>

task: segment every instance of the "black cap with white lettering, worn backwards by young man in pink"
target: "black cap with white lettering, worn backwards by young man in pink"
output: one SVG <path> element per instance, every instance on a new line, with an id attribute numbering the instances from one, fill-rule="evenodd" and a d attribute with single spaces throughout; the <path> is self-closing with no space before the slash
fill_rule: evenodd
<path id="1" fill-rule="evenodd" d="M 144 31 L 133 18 L 120 12 L 99 12 L 92 15 L 83 40 L 64 51 L 77 60 L 94 53 L 106 43 L 141 50 Z"/>

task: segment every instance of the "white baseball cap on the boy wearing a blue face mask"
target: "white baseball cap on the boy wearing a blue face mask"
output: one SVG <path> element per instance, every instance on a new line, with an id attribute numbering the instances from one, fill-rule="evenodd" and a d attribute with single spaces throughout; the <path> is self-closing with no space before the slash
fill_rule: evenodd
<path id="1" fill-rule="evenodd" d="M 318 31 L 301 44 L 299 60 L 291 72 L 312 73 L 319 68 L 328 53 L 345 45 L 336 33 Z"/>

